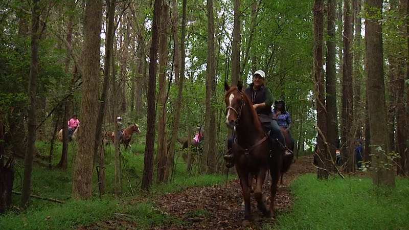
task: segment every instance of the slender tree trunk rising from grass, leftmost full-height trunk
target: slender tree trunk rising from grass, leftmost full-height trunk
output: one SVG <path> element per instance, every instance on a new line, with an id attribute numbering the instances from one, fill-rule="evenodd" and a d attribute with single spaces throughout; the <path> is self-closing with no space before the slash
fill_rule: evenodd
<path id="1" fill-rule="evenodd" d="M 28 88 L 28 97 L 30 98 L 30 110 L 28 116 L 28 134 L 27 148 L 24 159 L 24 174 L 21 188 L 21 208 L 26 209 L 29 206 L 31 194 L 31 172 L 33 170 L 33 160 L 35 151 L 35 132 L 37 126 L 36 119 L 36 94 L 37 94 L 37 77 L 38 77 L 38 39 L 40 24 L 40 1 L 33 0 L 31 12 L 31 61 L 30 61 L 30 84 Z"/>

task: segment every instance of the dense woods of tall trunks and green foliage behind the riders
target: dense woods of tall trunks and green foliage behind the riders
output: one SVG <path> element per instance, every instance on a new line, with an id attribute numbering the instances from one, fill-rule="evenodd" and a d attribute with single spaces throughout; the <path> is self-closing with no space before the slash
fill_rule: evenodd
<path id="1" fill-rule="evenodd" d="M 291 114 L 296 156 L 317 144 L 319 178 L 355 172 L 361 139 L 364 170 L 393 186 L 409 172 L 408 14 L 406 0 L 0 1 L 0 212 L 12 188 L 29 205 L 33 163 L 70 174 L 72 199 L 150 190 L 181 163 L 189 176 L 226 173 L 223 84 L 259 69 Z M 118 116 L 142 130 L 129 150 L 144 153 L 138 169 L 118 134 L 101 148 Z M 181 151 L 198 126 L 203 151 Z"/>

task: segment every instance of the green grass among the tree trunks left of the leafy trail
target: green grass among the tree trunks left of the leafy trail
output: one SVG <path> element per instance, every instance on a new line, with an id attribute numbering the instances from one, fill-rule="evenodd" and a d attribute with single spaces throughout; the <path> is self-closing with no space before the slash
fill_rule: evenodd
<path id="1" fill-rule="evenodd" d="M 61 143 L 57 143 L 54 149 L 52 165 L 58 164 L 61 157 Z M 31 198 L 30 208 L 22 213 L 9 212 L 0 216 L 0 229 L 70 229 L 78 225 L 87 225 L 101 220 L 113 219 L 113 213 L 123 213 L 130 216 L 132 222 L 138 224 L 138 229 L 147 229 L 152 225 L 166 225 L 168 222 L 177 222 L 167 215 L 163 215 L 150 203 L 150 197 L 156 194 L 175 192 L 188 187 L 210 186 L 225 180 L 224 175 L 197 175 L 189 174 L 184 160 L 176 154 L 176 166 L 174 179 L 170 183 L 153 185 L 148 199 L 134 204 L 129 202 L 144 192 L 137 188 L 140 185 L 143 172 L 144 146 L 132 144 L 132 150 L 122 151 L 124 164 L 129 177 L 123 172 L 122 194 L 120 199 L 113 198 L 114 191 L 114 162 L 113 146 L 105 148 L 106 165 L 106 195 L 99 199 L 97 187 L 97 173 L 94 171 L 93 178 L 93 200 L 73 201 L 71 200 L 73 163 L 76 153 L 76 145 L 70 143 L 68 169 L 61 170 L 53 168 L 49 170 L 44 164 L 34 163 L 32 194 L 41 197 L 50 197 L 66 201 L 66 204 L 54 203 L 50 201 Z M 36 142 L 36 149 L 41 155 L 48 156 L 50 144 Z M 22 159 L 17 159 L 19 165 L 23 165 Z M 42 162 L 47 163 L 47 162 Z M 48 165 L 48 163 L 46 164 Z M 23 173 L 23 169 L 16 166 L 16 177 L 14 180 L 14 191 L 21 190 L 21 180 L 18 174 Z M 155 180 L 156 176 L 153 176 Z M 232 177 L 230 177 L 232 178 Z M 131 195 L 129 183 L 135 193 Z M 13 205 L 19 204 L 19 195 L 12 195 Z M 133 204 L 130 204 L 133 203 Z M 47 218 L 50 217 L 50 218 Z M 127 218 L 127 217 L 125 217 Z"/>

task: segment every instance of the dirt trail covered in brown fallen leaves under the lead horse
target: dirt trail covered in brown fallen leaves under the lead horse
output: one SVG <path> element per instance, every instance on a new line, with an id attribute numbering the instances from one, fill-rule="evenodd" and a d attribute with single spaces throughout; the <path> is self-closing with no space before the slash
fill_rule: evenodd
<path id="1" fill-rule="evenodd" d="M 296 160 L 289 172 L 284 175 L 284 187 L 277 192 L 276 215 L 291 211 L 292 199 L 288 189 L 291 181 L 302 174 L 314 172 L 311 157 Z M 263 198 L 269 205 L 270 180 L 263 186 Z M 164 194 L 155 200 L 155 206 L 165 215 L 183 220 L 183 224 L 171 223 L 166 226 L 156 226 L 152 229 L 258 229 L 269 220 L 260 218 L 254 196 L 251 197 L 252 215 L 254 220 L 250 226 L 242 226 L 244 207 L 238 179 L 230 180 L 227 185 L 222 183 L 212 187 L 189 188 L 185 191 Z M 138 229 L 138 223 L 117 218 L 110 221 L 95 223 L 77 229 Z"/>

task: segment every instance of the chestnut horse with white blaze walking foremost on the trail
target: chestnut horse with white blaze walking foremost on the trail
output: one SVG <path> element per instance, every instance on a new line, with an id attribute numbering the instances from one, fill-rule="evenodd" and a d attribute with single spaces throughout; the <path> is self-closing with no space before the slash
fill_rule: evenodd
<path id="1" fill-rule="evenodd" d="M 236 127 L 236 142 L 233 144 L 232 153 L 244 198 L 244 221 L 252 219 L 250 206 L 251 182 L 249 181 L 252 175 L 256 177 L 254 197 L 257 200 L 257 208 L 263 215 L 274 217 L 274 202 L 284 151 L 277 151 L 270 155 L 268 137 L 261 127 L 252 102 L 242 90 L 241 82 L 238 82 L 237 87 L 230 87 L 224 82 L 224 88 L 226 90 L 224 102 L 226 103 L 227 113 L 225 123 L 231 129 Z M 273 142 L 277 145 L 275 141 Z M 270 168 L 272 178 L 270 211 L 267 211 L 261 193 L 268 168 Z"/>

